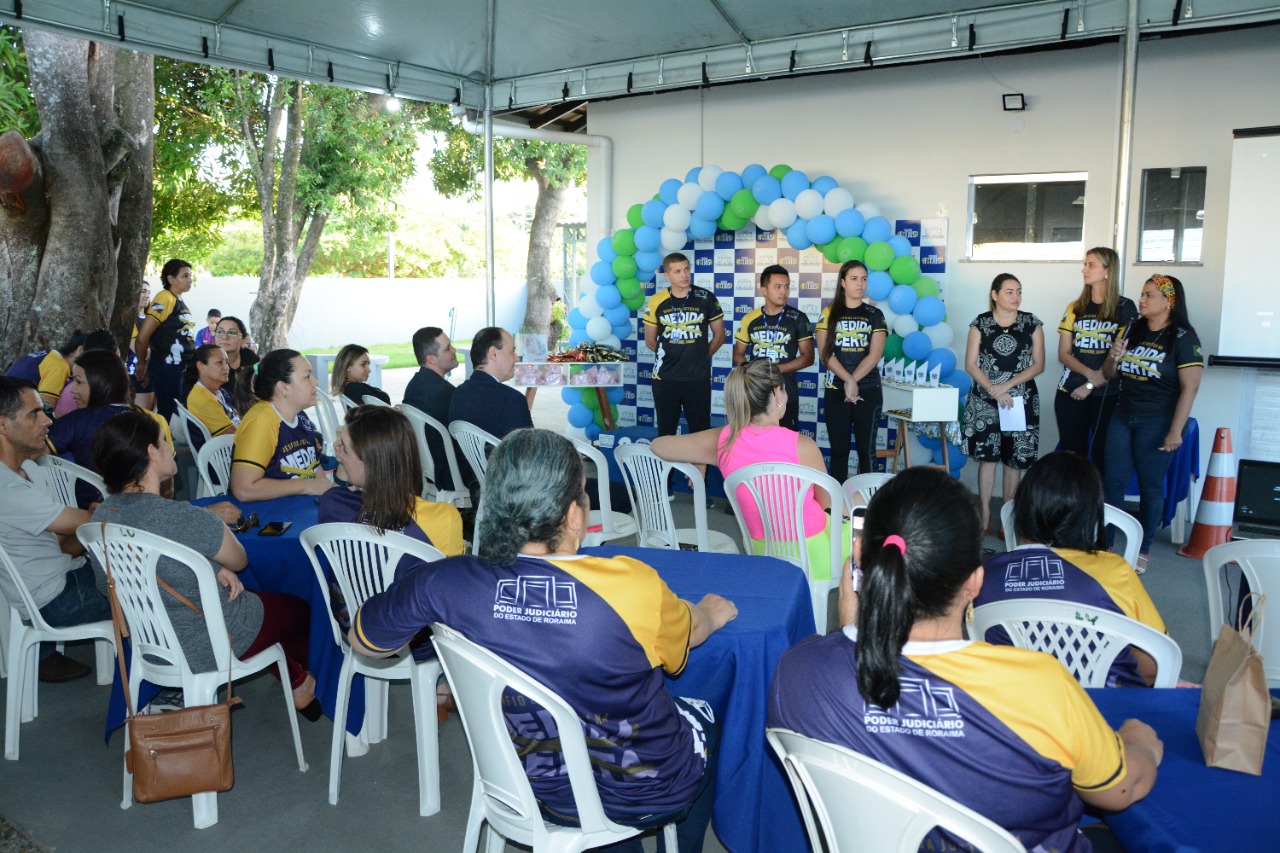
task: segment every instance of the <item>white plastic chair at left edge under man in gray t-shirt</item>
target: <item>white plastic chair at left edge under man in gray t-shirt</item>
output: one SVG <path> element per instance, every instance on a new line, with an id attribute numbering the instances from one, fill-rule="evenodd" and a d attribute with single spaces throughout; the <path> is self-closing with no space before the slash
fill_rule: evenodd
<path id="1" fill-rule="evenodd" d="M 18 590 L 23 610 L 31 613 L 29 620 L 23 620 L 18 607 L 0 596 L 0 606 L 4 607 L 9 617 L 5 646 L 9 683 L 5 685 L 4 757 L 9 761 L 18 761 L 20 724 L 31 722 L 40 715 L 40 644 L 70 643 L 83 639 L 97 640 L 93 643 L 97 683 L 110 684 L 114 678 L 115 634 L 111 630 L 110 620 L 73 625 L 72 628 L 50 628 L 40 615 L 40 610 L 31 597 L 31 590 L 27 589 L 27 581 L 18 573 L 18 566 L 3 548 L 0 548 L 0 573 Z"/>

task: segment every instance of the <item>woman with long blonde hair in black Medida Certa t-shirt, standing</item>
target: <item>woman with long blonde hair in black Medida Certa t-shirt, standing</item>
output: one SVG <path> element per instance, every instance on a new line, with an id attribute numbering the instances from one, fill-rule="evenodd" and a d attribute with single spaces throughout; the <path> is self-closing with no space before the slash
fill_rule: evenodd
<path id="1" fill-rule="evenodd" d="M 1093 461 L 1106 459 L 1107 425 L 1120 391 L 1102 374 L 1116 334 L 1138 319 L 1133 300 L 1120 296 L 1120 257 L 1105 246 L 1084 256 L 1084 289 L 1066 306 L 1057 325 L 1057 360 L 1062 378 L 1053 394 L 1059 448 Z"/>

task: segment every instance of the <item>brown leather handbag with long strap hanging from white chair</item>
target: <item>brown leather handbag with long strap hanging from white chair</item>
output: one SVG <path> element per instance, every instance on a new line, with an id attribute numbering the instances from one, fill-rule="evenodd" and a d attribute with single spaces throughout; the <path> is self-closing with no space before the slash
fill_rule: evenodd
<path id="1" fill-rule="evenodd" d="M 106 569 L 106 587 L 111 601 L 111 622 L 115 626 L 115 660 L 120 667 L 120 684 L 128 707 L 125 724 L 129 749 L 124 753 L 124 766 L 133 774 L 133 799 L 140 803 L 157 803 L 175 797 L 191 797 L 205 792 L 230 790 L 236 784 L 232 767 L 232 706 L 239 699 L 232 697 L 230 663 L 227 669 L 227 702 L 201 704 L 193 708 L 164 711 L 161 713 L 134 713 L 129 695 L 129 675 L 124 666 L 124 637 L 128 630 L 120 602 L 115 597 L 115 579 L 111 576 L 110 551 L 106 548 L 106 525 L 102 525 L 102 564 Z M 169 594 L 204 616 L 204 611 L 156 578 Z"/>

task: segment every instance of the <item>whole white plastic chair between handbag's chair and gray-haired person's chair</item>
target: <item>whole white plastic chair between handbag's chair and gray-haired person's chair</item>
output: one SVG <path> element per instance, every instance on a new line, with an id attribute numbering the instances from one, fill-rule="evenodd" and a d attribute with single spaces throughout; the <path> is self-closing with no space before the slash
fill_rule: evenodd
<path id="1" fill-rule="evenodd" d="M 333 715 L 333 743 L 329 748 L 329 803 L 338 804 L 338 786 L 342 783 L 342 749 L 347 731 L 347 707 L 351 702 L 351 680 L 358 672 L 366 679 L 365 695 L 378 693 L 378 698 L 366 707 L 366 731 L 376 734 L 370 742 L 381 740 L 387 730 L 387 681 L 408 679 L 413 694 L 413 721 L 417 734 L 417 812 L 429 817 L 440 811 L 440 735 L 435 711 L 435 684 L 442 670 L 438 661 L 417 663 L 408 649 L 398 656 L 371 658 L 353 652 L 347 642 L 346 631 L 333 616 L 329 602 L 329 575 L 320 562 L 316 551 L 325 560 L 338 580 L 338 588 L 347 601 L 348 612 L 355 615 L 369 599 L 396 578 L 396 566 L 406 555 L 425 562 L 443 560 L 444 555 L 429 544 L 417 542 L 402 533 L 380 533 L 364 524 L 319 524 L 307 528 L 298 537 L 303 551 L 311 560 L 316 580 L 324 592 L 325 610 L 329 612 L 329 625 L 333 628 L 333 642 L 342 649 L 342 675 L 338 681 L 338 701 Z M 371 725 L 372 724 L 372 725 Z"/>

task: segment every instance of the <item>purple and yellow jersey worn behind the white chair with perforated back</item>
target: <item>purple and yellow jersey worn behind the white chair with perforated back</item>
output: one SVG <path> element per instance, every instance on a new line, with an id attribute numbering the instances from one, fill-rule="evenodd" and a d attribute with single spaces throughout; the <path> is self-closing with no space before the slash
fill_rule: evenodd
<path id="1" fill-rule="evenodd" d="M 974 602 L 977 606 L 1011 598 L 1071 601 L 1120 613 L 1161 634 L 1167 633 L 1138 573 L 1119 555 L 1023 546 L 988 557 L 983 567 L 986 576 Z M 987 631 L 986 640 L 1002 646 L 1010 642 L 1002 628 Z M 1107 686 L 1147 686 L 1130 652 L 1121 652 L 1111 665 Z"/>

